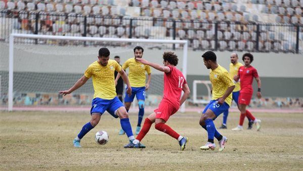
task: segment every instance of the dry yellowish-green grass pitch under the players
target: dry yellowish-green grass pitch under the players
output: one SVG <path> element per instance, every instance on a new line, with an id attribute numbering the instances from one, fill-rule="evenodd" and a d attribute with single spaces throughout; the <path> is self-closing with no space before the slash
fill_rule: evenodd
<path id="1" fill-rule="evenodd" d="M 147 114 L 145 114 L 146 116 Z M 202 151 L 207 132 L 199 113 L 177 113 L 167 122 L 189 142 L 179 151 L 178 142 L 151 127 L 142 140 L 145 149 L 124 149 L 127 137 L 119 136 L 120 121 L 109 114 L 74 148 L 73 139 L 89 121 L 87 113 L 1 112 L 1 170 L 302 170 L 303 113 L 255 113 L 262 120 L 260 132 L 232 132 L 239 113 L 230 113 L 223 152 Z M 133 130 L 137 116 L 130 114 Z M 215 124 L 220 126 L 222 116 Z M 98 130 L 108 132 L 104 146 L 94 142 Z M 215 141 L 218 144 L 218 141 Z"/>

